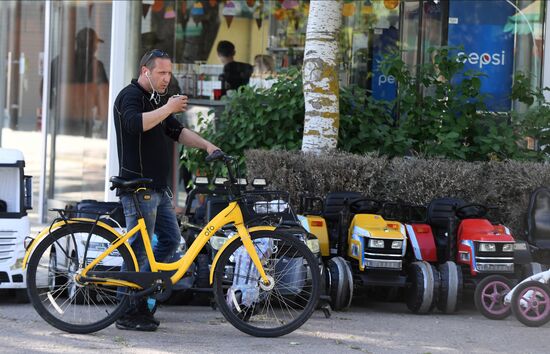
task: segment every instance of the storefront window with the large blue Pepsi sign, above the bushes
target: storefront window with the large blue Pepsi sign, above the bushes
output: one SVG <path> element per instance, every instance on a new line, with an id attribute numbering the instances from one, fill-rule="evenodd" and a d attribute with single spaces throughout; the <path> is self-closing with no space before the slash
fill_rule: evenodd
<path id="1" fill-rule="evenodd" d="M 457 48 L 455 54 L 464 56 L 464 71 L 482 74 L 481 92 L 489 110 L 520 109 L 510 100 L 513 77 L 523 72 L 533 88 L 540 87 L 543 14 L 540 0 L 422 1 L 418 62 L 430 60 L 430 48 Z"/>

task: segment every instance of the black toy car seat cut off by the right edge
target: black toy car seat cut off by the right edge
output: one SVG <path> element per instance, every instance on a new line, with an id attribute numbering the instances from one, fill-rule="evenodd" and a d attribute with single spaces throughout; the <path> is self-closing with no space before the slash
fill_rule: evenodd
<path id="1" fill-rule="evenodd" d="M 550 190 L 537 188 L 529 200 L 527 210 L 527 242 L 543 249 L 550 249 Z"/>

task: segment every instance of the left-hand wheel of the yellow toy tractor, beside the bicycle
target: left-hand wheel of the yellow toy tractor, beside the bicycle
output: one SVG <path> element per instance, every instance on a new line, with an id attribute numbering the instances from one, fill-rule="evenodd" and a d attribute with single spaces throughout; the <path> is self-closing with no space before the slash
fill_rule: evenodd
<path id="1" fill-rule="evenodd" d="M 348 263 L 342 257 L 329 259 L 328 293 L 333 310 L 340 311 L 350 307 L 353 297 L 353 275 Z"/>

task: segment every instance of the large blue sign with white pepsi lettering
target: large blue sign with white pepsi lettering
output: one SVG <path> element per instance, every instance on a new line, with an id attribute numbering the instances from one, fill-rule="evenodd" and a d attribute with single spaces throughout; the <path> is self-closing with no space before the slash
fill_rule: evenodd
<path id="1" fill-rule="evenodd" d="M 481 92 L 487 94 L 487 108 L 493 111 L 511 109 L 510 93 L 514 64 L 514 36 L 504 26 L 515 9 L 506 0 L 451 1 L 449 46 L 462 47 L 458 53 L 464 71 L 483 74 Z M 460 75 L 459 75 L 460 76 Z M 461 77 L 453 80 L 459 83 Z"/>

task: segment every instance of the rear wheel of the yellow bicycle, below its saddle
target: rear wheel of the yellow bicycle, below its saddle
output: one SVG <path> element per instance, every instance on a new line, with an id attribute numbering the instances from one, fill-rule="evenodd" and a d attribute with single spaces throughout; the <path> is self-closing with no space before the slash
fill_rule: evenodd
<path id="1" fill-rule="evenodd" d="M 27 265 L 27 291 L 44 320 L 65 332 L 91 333 L 120 316 L 128 296 L 117 299 L 114 286 L 75 279 L 84 264 L 90 264 L 116 239 L 106 229 L 82 223 L 59 228 L 36 246 Z M 135 270 L 126 246 L 114 250 L 93 270 L 116 271 L 123 261 L 129 271 Z"/>

